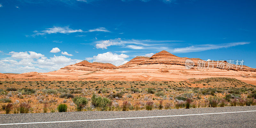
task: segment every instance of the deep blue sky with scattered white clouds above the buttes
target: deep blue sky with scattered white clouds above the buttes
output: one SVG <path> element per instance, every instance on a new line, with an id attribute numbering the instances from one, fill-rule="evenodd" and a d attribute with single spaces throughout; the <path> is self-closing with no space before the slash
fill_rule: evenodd
<path id="1" fill-rule="evenodd" d="M 253 0 L 0 0 L 0 17 L 1 73 L 118 66 L 162 50 L 256 68 Z"/>

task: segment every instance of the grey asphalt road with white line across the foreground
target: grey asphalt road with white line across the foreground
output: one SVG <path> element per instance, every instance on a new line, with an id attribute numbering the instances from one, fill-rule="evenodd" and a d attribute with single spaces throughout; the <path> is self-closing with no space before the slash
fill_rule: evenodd
<path id="1" fill-rule="evenodd" d="M 0 127 L 255 128 L 256 106 L 152 111 L 86 111 L 66 113 L 1 114 Z"/>

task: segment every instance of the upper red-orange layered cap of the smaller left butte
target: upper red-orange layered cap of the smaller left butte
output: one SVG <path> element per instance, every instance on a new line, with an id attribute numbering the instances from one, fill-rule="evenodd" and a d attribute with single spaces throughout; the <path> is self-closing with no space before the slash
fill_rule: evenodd
<path id="1" fill-rule="evenodd" d="M 103 70 L 103 69 L 113 69 L 116 66 L 110 63 L 100 63 L 100 62 L 88 62 L 86 60 L 73 64 L 73 65 L 68 65 L 64 68 L 60 68 L 57 71 L 60 72 L 72 72 L 72 71 L 98 71 L 98 70 Z"/>

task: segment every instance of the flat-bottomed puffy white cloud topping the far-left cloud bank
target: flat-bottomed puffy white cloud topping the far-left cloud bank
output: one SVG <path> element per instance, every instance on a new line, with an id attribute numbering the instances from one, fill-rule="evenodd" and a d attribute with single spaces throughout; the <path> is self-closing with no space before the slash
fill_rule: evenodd
<path id="1" fill-rule="evenodd" d="M 9 52 L 9 54 L 11 54 L 13 58 L 19 58 L 19 59 L 38 59 L 44 55 L 40 54 L 40 53 L 36 53 L 36 52 L 32 52 L 29 51 L 28 52 Z"/>

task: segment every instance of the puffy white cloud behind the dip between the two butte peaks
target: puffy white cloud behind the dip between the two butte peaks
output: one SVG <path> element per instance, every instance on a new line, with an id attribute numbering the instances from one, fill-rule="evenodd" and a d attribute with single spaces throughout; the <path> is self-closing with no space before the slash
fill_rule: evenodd
<path id="1" fill-rule="evenodd" d="M 106 52 L 102 54 L 98 54 L 97 56 L 86 58 L 86 60 L 93 60 L 94 62 L 102 62 L 102 63 L 111 63 L 113 65 L 119 66 L 126 62 L 125 58 L 129 56 L 126 54 L 116 54 L 112 52 Z"/>

